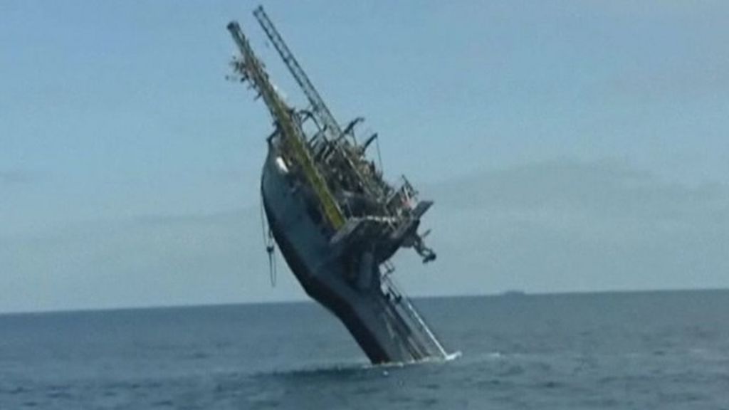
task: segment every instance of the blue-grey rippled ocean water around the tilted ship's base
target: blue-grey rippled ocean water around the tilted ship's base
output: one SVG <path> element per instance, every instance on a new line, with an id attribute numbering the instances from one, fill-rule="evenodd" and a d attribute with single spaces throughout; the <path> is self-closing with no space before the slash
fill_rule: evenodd
<path id="1" fill-rule="evenodd" d="M 414 301 L 371 366 L 313 303 L 0 316 L 0 409 L 729 409 L 729 291 Z"/>

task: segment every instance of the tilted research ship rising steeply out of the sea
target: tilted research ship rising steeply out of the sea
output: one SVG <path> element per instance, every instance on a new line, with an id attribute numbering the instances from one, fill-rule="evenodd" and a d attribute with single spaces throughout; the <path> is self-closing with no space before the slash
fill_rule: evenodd
<path id="1" fill-rule="evenodd" d="M 383 179 L 367 157 L 377 134 L 358 142 L 354 128 L 362 118 L 340 127 L 262 7 L 253 14 L 309 103 L 289 107 L 241 27 L 228 24 L 240 51 L 231 61 L 233 79 L 249 84 L 273 119 L 261 195 L 286 263 L 372 363 L 445 358 L 440 341 L 394 285 L 389 262 L 401 247 L 413 248 L 424 263 L 435 259 L 418 233 L 432 201 L 419 201 L 405 177 L 397 187 Z"/>

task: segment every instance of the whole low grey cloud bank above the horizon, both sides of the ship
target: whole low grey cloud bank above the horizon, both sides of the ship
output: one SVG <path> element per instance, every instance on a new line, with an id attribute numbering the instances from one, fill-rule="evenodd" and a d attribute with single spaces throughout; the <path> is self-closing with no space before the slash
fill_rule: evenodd
<path id="1" fill-rule="evenodd" d="M 729 287 L 726 185 L 558 159 L 422 188 L 438 259 L 398 253 L 409 294 Z M 253 206 L 0 236 L 0 311 L 305 298 L 261 233 Z"/>

